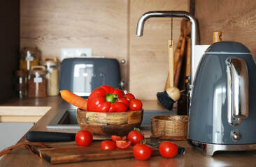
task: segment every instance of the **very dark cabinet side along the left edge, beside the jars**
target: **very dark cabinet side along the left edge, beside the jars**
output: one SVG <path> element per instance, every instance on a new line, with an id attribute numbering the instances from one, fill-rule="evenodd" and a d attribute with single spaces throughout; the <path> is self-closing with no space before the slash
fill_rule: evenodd
<path id="1" fill-rule="evenodd" d="M 13 97 L 20 47 L 20 0 L 0 1 L 0 102 Z"/>

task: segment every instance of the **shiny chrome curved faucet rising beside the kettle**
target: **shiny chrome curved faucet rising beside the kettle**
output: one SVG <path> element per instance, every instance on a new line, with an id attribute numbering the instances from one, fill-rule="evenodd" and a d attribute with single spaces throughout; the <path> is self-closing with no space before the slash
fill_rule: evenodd
<path id="1" fill-rule="evenodd" d="M 144 24 L 147 19 L 150 17 L 184 17 L 190 20 L 191 24 L 191 67 L 190 67 L 190 90 L 192 88 L 194 80 L 194 46 L 196 45 L 196 33 L 197 33 L 197 22 L 189 13 L 185 11 L 151 11 L 144 13 L 140 19 L 138 19 L 136 35 L 142 36 Z"/>

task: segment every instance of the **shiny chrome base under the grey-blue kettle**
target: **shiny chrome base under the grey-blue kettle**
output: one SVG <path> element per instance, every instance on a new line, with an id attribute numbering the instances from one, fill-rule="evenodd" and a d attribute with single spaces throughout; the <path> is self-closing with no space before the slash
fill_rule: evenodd
<path id="1" fill-rule="evenodd" d="M 244 145 L 224 145 L 224 144 L 211 144 L 200 143 L 190 140 L 190 143 L 197 147 L 206 156 L 213 156 L 216 151 L 249 151 L 256 150 L 256 144 L 244 144 Z"/>

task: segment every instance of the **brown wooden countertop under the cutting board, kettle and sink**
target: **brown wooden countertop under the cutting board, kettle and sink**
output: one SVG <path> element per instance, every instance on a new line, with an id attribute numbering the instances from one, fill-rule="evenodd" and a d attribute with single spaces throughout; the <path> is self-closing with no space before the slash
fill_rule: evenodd
<path id="1" fill-rule="evenodd" d="M 36 131 L 56 131 L 46 129 L 48 122 L 52 120 L 59 109 L 76 109 L 71 104 L 66 103 L 61 97 L 27 98 L 24 100 L 13 99 L 1 106 L 50 106 L 50 110 L 36 122 L 30 130 Z M 18 108 L 17 108 L 18 109 Z M 39 109 L 39 108 L 38 108 Z M 156 101 L 144 101 L 144 110 L 164 110 Z M 17 110 L 17 112 L 19 112 Z M 35 111 L 36 112 L 36 111 Z M 58 129 L 57 132 L 75 132 L 73 129 Z M 150 131 L 146 132 L 150 133 Z M 23 136 L 20 142 L 25 141 Z M 91 161 L 74 164 L 59 164 L 55 166 L 256 166 L 256 151 L 246 152 L 215 152 L 213 157 L 206 157 L 194 148 L 187 140 L 173 141 L 185 148 L 185 154 L 179 154 L 173 159 L 164 159 L 161 156 L 150 157 L 147 161 L 131 159 L 118 159 L 108 161 Z M 27 148 L 18 148 L 3 156 L 0 166 L 51 166 L 47 161 L 31 154 Z"/>

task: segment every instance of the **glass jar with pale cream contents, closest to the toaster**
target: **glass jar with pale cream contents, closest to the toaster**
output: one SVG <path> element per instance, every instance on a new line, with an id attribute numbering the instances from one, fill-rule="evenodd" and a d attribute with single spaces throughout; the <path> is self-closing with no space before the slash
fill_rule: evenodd
<path id="1" fill-rule="evenodd" d="M 48 73 L 47 79 L 47 95 L 59 95 L 59 61 L 57 57 L 43 57 L 40 65 L 44 65 Z"/>

